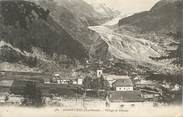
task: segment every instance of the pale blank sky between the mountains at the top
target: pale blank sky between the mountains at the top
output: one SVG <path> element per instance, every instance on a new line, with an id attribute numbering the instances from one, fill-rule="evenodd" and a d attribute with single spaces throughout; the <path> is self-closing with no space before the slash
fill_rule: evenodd
<path id="1" fill-rule="evenodd" d="M 137 13 L 151 9 L 159 0 L 85 0 L 89 3 L 102 3 L 122 13 Z"/>

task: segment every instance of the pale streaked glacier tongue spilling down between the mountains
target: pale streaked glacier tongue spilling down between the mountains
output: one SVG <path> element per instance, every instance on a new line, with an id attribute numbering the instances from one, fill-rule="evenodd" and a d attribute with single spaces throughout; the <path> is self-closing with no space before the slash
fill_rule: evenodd
<path id="1" fill-rule="evenodd" d="M 154 49 L 159 47 L 148 40 L 121 35 L 106 26 L 90 26 L 89 29 L 100 35 L 109 46 L 108 52 L 118 59 L 155 63 L 149 57 L 160 56 Z"/>

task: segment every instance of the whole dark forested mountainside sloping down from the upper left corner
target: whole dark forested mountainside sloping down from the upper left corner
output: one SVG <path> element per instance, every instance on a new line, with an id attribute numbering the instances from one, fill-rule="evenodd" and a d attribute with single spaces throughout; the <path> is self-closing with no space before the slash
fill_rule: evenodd
<path id="1" fill-rule="evenodd" d="M 46 10 L 24 0 L 0 1 L 0 40 L 21 51 L 40 48 L 52 56 L 66 55 L 78 60 L 88 57 L 84 46 L 73 39 Z"/>

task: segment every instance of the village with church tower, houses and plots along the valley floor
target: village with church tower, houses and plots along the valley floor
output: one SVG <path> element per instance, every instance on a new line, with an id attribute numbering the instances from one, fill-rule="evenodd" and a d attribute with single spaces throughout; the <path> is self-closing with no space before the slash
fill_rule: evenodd
<path id="1" fill-rule="evenodd" d="M 67 78 L 29 72 L 0 72 L 0 105 L 87 107 L 102 105 L 123 107 L 124 103 L 153 102 L 163 99 L 162 86 L 138 76 L 109 75 L 102 70 L 96 76 Z M 164 84 L 164 87 L 169 86 Z M 172 90 L 179 90 L 179 86 Z"/>

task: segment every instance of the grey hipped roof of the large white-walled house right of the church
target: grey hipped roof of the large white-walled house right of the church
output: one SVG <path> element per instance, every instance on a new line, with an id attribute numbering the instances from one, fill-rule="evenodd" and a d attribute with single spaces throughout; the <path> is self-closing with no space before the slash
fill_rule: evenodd
<path id="1" fill-rule="evenodd" d="M 118 79 L 113 84 L 113 87 L 131 87 L 133 83 L 130 79 Z"/>

